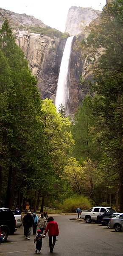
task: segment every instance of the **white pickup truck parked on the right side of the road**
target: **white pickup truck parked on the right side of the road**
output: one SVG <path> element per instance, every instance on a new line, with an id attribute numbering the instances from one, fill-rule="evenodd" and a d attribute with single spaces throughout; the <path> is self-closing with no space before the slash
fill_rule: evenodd
<path id="1" fill-rule="evenodd" d="M 92 221 L 97 222 L 97 216 L 104 212 L 115 212 L 115 210 L 111 207 L 96 206 L 87 211 L 82 211 L 80 218 L 84 219 L 86 223 L 91 223 Z"/>

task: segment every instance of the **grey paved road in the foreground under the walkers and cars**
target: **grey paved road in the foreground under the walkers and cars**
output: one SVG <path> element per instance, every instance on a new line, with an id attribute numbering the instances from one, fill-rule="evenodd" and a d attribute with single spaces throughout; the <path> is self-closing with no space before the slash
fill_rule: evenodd
<path id="1" fill-rule="evenodd" d="M 75 217 L 54 216 L 60 231 L 58 241 L 54 253 L 50 253 L 47 235 L 42 241 L 42 256 L 123 256 L 123 232 L 116 233 L 100 224 L 70 220 Z M 31 240 L 25 240 L 23 227 L 0 245 L 0 256 L 33 256 L 34 252 L 34 236 L 31 235 Z"/>

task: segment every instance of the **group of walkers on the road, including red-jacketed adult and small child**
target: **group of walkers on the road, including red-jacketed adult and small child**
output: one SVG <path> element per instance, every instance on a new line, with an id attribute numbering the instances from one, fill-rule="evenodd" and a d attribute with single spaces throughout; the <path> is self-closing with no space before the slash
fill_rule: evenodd
<path id="1" fill-rule="evenodd" d="M 45 216 L 46 217 L 45 217 Z M 37 226 L 39 226 L 39 230 L 37 230 L 37 235 L 34 238 L 34 243 L 36 242 L 36 250 L 41 251 L 42 248 L 42 238 L 45 238 L 46 233 L 48 232 L 49 236 L 49 247 L 50 252 L 53 252 L 54 245 L 56 243 L 56 236 L 59 235 L 59 228 L 56 221 L 54 221 L 53 217 L 48 218 L 47 212 L 41 213 L 40 217 L 36 215 L 36 213 L 31 214 L 31 211 L 28 210 L 27 214 L 24 215 L 22 221 L 24 227 L 24 236 L 25 239 L 30 240 L 31 236 L 31 227 L 33 227 L 33 235 L 36 235 Z M 45 230 L 45 231 L 44 231 Z M 43 235 L 44 231 L 44 235 Z"/>

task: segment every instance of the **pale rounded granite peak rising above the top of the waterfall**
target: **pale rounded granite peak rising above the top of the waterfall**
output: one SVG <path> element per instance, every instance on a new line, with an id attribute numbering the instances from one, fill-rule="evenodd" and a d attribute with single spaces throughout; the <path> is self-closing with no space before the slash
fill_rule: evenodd
<path id="1" fill-rule="evenodd" d="M 91 8 L 72 6 L 67 14 L 65 32 L 69 35 L 79 35 L 100 13 Z"/>

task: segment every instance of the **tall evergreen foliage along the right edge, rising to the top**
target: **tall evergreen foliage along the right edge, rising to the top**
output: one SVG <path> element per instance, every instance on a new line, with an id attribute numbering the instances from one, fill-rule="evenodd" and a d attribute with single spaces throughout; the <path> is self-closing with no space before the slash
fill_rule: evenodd
<path id="1" fill-rule="evenodd" d="M 112 195 L 116 193 L 115 178 L 117 189 L 120 191 L 120 210 L 123 210 L 123 24 L 121 20 L 123 20 L 123 1 L 116 0 L 107 4 L 101 14 L 100 23 L 98 25 L 92 23 L 87 41 L 81 43 L 81 50 L 84 52 L 83 58 L 86 56 L 90 59 L 87 71 L 93 73 L 95 81 L 89 82 L 89 93 L 93 97 L 88 102 L 88 108 L 91 110 L 88 138 L 91 138 L 89 143 L 92 147 L 92 151 L 89 147 L 88 154 L 93 165 L 100 172 L 104 182 L 103 187 L 106 187 L 106 193 L 110 196 L 110 204 Z M 83 76 L 81 81 L 84 81 Z M 84 110 L 84 105 L 82 108 Z M 86 110 L 84 112 L 86 113 Z M 78 114 L 76 123 L 80 123 L 80 116 L 83 120 L 84 113 Z M 82 128 L 81 131 L 83 134 Z M 75 136 L 77 135 L 76 133 Z M 86 134 L 84 137 L 87 138 Z"/>

